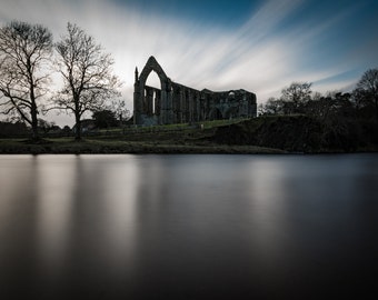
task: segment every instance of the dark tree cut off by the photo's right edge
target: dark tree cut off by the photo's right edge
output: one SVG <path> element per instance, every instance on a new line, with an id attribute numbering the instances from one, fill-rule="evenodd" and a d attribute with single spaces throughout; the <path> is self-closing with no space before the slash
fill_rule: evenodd
<path id="1" fill-rule="evenodd" d="M 378 69 L 367 70 L 357 83 L 355 96 L 365 106 L 372 106 L 378 120 Z"/>

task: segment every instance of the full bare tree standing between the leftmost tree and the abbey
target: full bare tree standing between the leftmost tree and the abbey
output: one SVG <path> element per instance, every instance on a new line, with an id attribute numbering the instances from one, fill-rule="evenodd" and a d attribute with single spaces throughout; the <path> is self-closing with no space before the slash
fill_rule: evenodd
<path id="1" fill-rule="evenodd" d="M 56 103 L 74 114 L 76 139 L 80 140 L 82 114 L 100 110 L 107 99 L 119 96 L 120 81 L 112 74 L 111 56 L 103 53 L 92 37 L 76 24 L 68 23 L 67 30 L 56 44 L 57 66 L 64 82 Z"/>

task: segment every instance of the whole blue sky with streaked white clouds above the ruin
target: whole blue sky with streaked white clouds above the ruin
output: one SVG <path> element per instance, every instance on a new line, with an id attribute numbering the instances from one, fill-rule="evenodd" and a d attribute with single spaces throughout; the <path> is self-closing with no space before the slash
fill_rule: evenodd
<path id="1" fill-rule="evenodd" d="M 258 103 L 294 81 L 350 91 L 378 68 L 377 16 L 378 0 L 0 0 L 1 26 L 40 23 L 58 41 L 71 22 L 94 37 L 115 59 L 131 111 L 135 68 L 150 56 L 175 82 L 245 89 Z"/>

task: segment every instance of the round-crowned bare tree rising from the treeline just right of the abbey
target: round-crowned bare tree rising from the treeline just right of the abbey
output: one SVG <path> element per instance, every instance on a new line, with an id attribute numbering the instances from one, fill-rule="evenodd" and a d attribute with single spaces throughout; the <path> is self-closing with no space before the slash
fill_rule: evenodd
<path id="1" fill-rule="evenodd" d="M 288 88 L 282 89 L 284 113 L 302 112 L 301 108 L 304 104 L 311 100 L 311 84 L 309 82 L 292 82 Z"/>

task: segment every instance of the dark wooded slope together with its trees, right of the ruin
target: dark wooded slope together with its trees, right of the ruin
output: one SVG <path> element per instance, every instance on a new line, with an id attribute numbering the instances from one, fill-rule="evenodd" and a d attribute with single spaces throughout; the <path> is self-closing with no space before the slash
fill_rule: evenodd
<path id="1" fill-rule="evenodd" d="M 378 69 L 365 72 L 354 91 L 312 93 L 294 82 L 259 106 L 259 120 L 218 129 L 215 141 L 300 152 L 378 150 Z"/>

